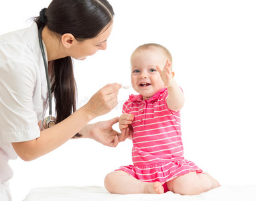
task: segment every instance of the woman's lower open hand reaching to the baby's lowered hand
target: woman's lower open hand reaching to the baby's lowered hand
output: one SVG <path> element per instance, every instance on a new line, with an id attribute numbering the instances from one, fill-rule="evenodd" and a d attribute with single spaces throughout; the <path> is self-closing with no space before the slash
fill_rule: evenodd
<path id="1" fill-rule="evenodd" d="M 91 125 L 88 137 L 109 147 L 117 147 L 118 143 L 129 137 L 129 133 L 118 133 L 113 129 L 113 125 L 119 122 L 119 117 L 108 121 L 99 121 Z"/>

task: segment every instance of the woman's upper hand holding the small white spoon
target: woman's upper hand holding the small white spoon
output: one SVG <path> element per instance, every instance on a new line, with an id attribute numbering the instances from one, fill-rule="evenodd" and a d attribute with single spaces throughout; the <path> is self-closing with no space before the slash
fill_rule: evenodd
<path id="1" fill-rule="evenodd" d="M 121 84 L 107 84 L 98 90 L 81 109 L 90 114 L 92 119 L 109 113 L 117 106 L 117 94 Z"/>

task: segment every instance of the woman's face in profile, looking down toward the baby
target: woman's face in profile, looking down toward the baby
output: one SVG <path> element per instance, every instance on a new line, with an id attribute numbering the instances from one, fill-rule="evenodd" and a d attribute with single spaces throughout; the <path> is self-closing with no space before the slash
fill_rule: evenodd
<path id="1" fill-rule="evenodd" d="M 85 60 L 87 56 L 95 54 L 98 50 L 106 50 L 107 39 L 111 34 L 113 21 L 110 23 L 106 25 L 97 37 L 86 39 L 82 42 L 76 40 L 69 50 L 70 56 L 76 60 Z"/>

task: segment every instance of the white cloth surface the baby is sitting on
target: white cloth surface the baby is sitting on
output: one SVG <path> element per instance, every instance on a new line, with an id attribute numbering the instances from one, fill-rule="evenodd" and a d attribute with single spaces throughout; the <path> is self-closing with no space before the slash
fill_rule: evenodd
<path id="1" fill-rule="evenodd" d="M 173 192 L 165 194 L 110 194 L 101 186 L 59 186 L 34 188 L 23 201 L 253 201 L 256 200 L 254 186 L 220 186 L 196 196 L 182 196 Z"/>

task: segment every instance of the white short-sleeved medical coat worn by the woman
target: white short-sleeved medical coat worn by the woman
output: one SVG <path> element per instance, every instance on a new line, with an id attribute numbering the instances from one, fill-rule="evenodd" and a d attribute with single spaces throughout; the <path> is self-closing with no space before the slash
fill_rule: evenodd
<path id="1" fill-rule="evenodd" d="M 13 172 L 8 161 L 17 158 L 11 143 L 40 137 L 38 121 L 46 98 L 36 23 L 0 36 L 0 200 L 11 200 L 7 181 Z"/>

